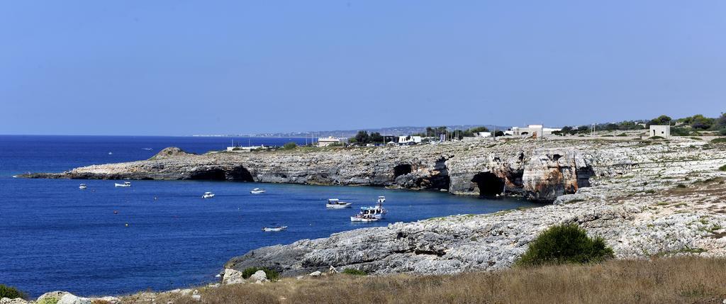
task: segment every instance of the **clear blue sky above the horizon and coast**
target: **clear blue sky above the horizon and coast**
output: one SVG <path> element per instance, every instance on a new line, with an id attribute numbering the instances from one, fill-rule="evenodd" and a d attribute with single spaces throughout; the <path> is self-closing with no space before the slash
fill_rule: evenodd
<path id="1" fill-rule="evenodd" d="M 726 1 L 0 1 L 0 133 L 726 110 Z"/>

